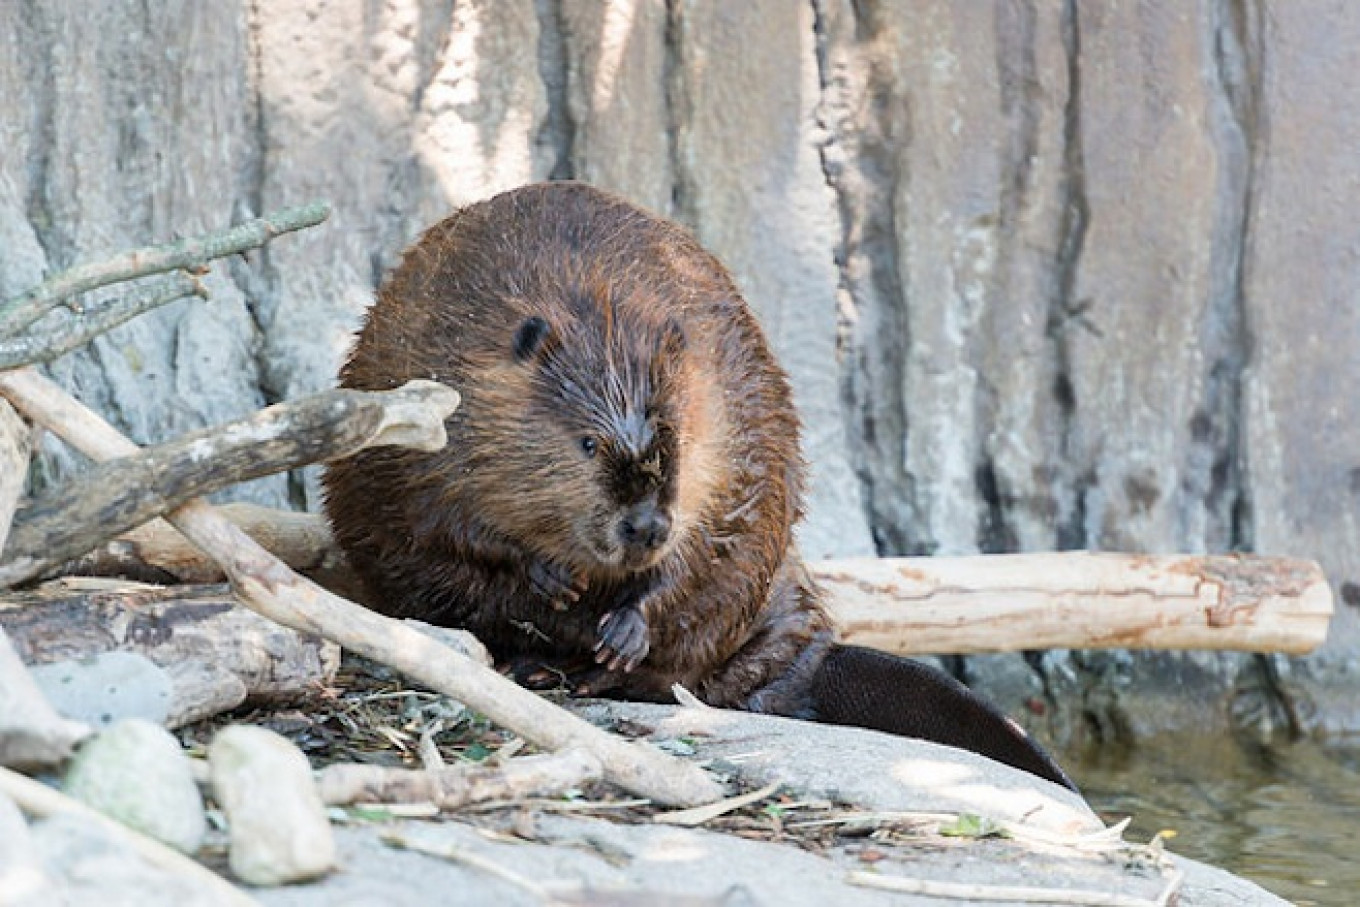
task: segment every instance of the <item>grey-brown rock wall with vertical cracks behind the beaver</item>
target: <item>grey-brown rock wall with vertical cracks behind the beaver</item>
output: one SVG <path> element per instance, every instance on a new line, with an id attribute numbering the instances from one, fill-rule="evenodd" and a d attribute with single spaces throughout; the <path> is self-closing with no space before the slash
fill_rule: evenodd
<path id="1" fill-rule="evenodd" d="M 1059 734 L 1360 728 L 1353 4 L 14 0 L 0 86 L 0 296 L 335 204 L 53 366 L 140 441 L 329 385 L 422 226 L 582 178 L 691 224 L 760 311 L 811 555 L 1255 549 L 1338 592 L 1310 660 L 956 665 L 993 695 Z M 309 473 L 239 494 L 316 506 Z"/>

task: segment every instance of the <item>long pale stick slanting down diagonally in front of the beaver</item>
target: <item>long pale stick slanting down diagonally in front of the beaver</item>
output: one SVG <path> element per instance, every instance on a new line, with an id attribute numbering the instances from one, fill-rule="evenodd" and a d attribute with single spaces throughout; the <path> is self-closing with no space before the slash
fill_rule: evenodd
<path id="1" fill-rule="evenodd" d="M 88 457 L 136 451 L 113 426 L 31 370 L 0 373 L 0 393 Z M 600 759 L 605 778 L 624 790 L 677 806 L 710 802 L 722 794 L 698 766 L 605 733 L 420 631 L 296 575 L 200 500 L 178 507 L 167 519 L 222 564 L 248 608 L 271 620 L 396 668 L 544 749 L 582 747 Z"/>

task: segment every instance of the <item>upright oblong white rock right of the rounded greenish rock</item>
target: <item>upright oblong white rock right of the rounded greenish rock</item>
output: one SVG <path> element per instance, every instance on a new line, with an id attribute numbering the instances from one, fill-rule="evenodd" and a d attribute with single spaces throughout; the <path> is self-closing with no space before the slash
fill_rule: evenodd
<path id="1" fill-rule="evenodd" d="M 231 827 L 231 872 L 253 885 L 314 878 L 335 866 L 335 836 L 302 751 L 237 725 L 208 748 L 212 793 Z"/>

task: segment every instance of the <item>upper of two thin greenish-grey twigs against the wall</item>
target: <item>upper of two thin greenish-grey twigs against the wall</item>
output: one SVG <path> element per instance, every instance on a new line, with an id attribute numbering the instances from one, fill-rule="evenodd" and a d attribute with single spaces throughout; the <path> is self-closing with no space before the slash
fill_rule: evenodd
<path id="1" fill-rule="evenodd" d="M 201 268 L 214 258 L 257 249 L 279 234 L 314 227 L 329 213 L 330 205 L 314 203 L 256 218 L 226 231 L 135 249 L 105 261 L 71 268 L 0 305 L 0 337 L 19 333 L 76 294 L 165 271 Z"/>

